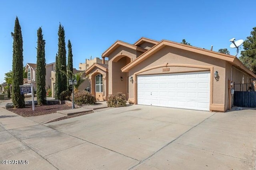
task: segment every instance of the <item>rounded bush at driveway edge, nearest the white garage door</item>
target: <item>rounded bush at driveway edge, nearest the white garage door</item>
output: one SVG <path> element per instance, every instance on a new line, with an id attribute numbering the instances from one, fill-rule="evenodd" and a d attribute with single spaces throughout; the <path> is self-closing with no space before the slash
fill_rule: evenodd
<path id="1" fill-rule="evenodd" d="M 126 95 L 122 93 L 111 94 L 107 101 L 108 107 L 125 107 Z"/>

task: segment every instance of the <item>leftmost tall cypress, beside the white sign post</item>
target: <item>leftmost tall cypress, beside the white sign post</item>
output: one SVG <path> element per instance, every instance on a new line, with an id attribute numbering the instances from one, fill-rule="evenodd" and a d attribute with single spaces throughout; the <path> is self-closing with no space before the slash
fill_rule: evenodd
<path id="1" fill-rule="evenodd" d="M 25 107 L 24 95 L 20 94 L 20 85 L 23 84 L 23 40 L 21 27 L 16 17 L 13 38 L 12 52 L 12 103 L 16 108 Z"/>

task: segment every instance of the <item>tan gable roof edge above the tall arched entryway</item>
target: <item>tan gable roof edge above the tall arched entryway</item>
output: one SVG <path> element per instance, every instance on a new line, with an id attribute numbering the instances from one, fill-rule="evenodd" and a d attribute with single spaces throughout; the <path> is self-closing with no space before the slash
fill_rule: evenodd
<path id="1" fill-rule="evenodd" d="M 108 57 L 108 55 L 109 55 L 110 53 L 112 53 L 115 49 L 117 49 L 120 45 L 122 45 L 122 46 L 124 46 L 124 47 L 128 47 L 128 48 L 130 48 L 130 49 L 134 49 L 134 50 L 137 50 L 137 51 L 141 51 L 141 52 L 147 51 L 146 49 L 141 48 L 141 47 L 138 47 L 138 46 L 136 46 L 136 45 L 132 45 L 132 44 L 129 44 L 129 43 L 126 43 L 126 42 L 117 40 L 114 44 L 112 44 L 112 45 L 102 54 L 102 57 Z"/>

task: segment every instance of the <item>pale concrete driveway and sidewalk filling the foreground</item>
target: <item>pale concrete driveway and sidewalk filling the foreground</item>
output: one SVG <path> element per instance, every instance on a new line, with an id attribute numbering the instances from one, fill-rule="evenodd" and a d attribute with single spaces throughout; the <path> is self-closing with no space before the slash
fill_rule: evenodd
<path id="1" fill-rule="evenodd" d="M 0 169 L 255 169 L 256 110 L 128 106 L 39 125 L 0 109 Z M 13 117 L 11 117 L 13 115 Z"/>

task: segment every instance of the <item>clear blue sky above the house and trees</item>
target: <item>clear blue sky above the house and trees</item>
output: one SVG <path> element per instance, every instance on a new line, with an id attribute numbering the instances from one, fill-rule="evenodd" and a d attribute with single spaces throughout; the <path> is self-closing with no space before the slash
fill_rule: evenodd
<path id="1" fill-rule="evenodd" d="M 0 82 L 12 70 L 12 37 L 18 16 L 23 36 L 24 66 L 36 63 L 37 29 L 46 40 L 46 63 L 55 62 L 58 26 L 72 43 L 73 66 L 90 56 L 101 57 L 116 40 L 134 43 L 140 37 L 181 42 L 218 51 L 230 39 L 246 39 L 256 27 L 255 0 L 1 0 Z M 67 47 L 66 50 L 68 51 Z"/>

